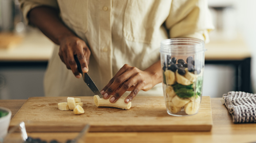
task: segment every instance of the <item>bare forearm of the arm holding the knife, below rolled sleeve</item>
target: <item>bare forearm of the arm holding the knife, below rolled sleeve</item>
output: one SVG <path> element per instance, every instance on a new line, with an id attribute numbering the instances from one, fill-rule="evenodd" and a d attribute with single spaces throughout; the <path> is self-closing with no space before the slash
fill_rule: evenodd
<path id="1" fill-rule="evenodd" d="M 59 19 L 58 11 L 55 8 L 41 6 L 33 8 L 28 18 L 30 23 L 38 27 L 54 43 L 60 44 L 60 40 L 65 36 L 75 36 L 75 34 Z"/>

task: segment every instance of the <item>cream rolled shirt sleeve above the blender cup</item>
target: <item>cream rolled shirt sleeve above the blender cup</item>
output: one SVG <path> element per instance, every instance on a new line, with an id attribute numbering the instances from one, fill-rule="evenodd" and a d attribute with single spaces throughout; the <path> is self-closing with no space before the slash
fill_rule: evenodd
<path id="1" fill-rule="evenodd" d="M 205 43 L 214 29 L 207 0 L 173 0 L 165 24 L 170 38 L 196 38 Z"/>

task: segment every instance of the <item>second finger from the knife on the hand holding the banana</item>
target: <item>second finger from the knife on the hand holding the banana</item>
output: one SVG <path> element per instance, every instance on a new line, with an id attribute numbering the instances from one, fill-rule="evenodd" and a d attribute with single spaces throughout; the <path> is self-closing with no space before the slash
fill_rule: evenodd
<path id="1" fill-rule="evenodd" d="M 112 82 L 112 84 L 106 89 L 103 97 L 108 99 L 109 96 L 119 87 L 124 81 L 133 75 L 133 72 L 124 72 Z"/>

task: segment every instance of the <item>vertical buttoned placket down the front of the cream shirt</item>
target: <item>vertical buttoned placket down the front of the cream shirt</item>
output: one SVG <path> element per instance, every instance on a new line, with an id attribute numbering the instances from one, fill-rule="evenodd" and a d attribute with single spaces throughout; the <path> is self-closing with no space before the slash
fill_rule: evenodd
<path id="1" fill-rule="evenodd" d="M 104 79 L 112 78 L 112 0 L 100 1 L 99 13 L 99 46 L 100 67 Z"/>

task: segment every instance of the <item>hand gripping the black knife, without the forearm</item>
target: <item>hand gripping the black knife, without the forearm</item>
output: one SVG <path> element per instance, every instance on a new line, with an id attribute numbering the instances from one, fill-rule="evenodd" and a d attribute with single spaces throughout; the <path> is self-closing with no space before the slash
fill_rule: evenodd
<path id="1" fill-rule="evenodd" d="M 59 39 L 59 56 L 68 69 L 71 69 L 75 77 L 80 78 L 81 73 L 77 69 L 74 55 L 80 62 L 83 72 L 88 72 L 89 58 L 91 51 L 86 45 L 85 41 L 76 37 L 75 35 L 61 36 Z"/>

